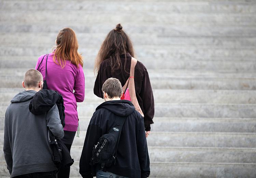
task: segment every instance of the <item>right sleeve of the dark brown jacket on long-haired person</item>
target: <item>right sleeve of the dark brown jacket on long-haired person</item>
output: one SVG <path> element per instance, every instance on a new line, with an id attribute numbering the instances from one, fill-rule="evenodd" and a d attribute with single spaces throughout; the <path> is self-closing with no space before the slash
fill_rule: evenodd
<path id="1" fill-rule="evenodd" d="M 143 66 L 144 67 L 144 66 Z M 154 104 L 154 96 L 150 83 L 150 78 L 148 76 L 147 69 L 144 67 L 144 73 L 142 77 L 142 86 L 140 96 L 143 101 L 144 108 L 144 123 L 145 130 L 150 131 L 150 124 L 153 124 L 153 117 L 155 114 L 155 104 Z"/>

